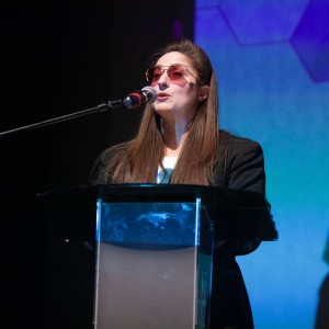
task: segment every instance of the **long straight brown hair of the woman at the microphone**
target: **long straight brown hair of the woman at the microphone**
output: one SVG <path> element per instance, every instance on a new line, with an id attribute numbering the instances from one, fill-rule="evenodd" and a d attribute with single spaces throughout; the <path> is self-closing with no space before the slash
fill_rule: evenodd
<path id="1" fill-rule="evenodd" d="M 200 103 L 189 127 L 188 138 L 179 156 L 171 183 L 208 185 L 214 182 L 213 171 L 218 155 L 217 82 L 208 56 L 188 39 L 175 41 L 152 56 L 151 65 L 167 53 L 185 55 L 197 72 L 198 88 L 209 86 L 207 99 Z M 109 162 L 103 171 L 111 183 L 155 183 L 158 166 L 163 158 L 164 143 L 160 116 L 146 105 L 137 136 L 106 152 Z M 105 182 L 103 182 L 105 183 Z"/>

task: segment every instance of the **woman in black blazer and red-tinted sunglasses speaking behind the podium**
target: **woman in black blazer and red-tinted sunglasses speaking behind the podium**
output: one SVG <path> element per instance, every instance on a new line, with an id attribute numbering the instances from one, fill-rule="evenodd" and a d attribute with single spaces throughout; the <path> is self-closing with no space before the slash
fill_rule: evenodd
<path id="1" fill-rule="evenodd" d="M 136 138 L 100 156 L 95 184 L 200 184 L 265 193 L 259 144 L 218 131 L 217 83 L 203 49 L 186 39 L 173 42 L 152 57 L 146 77 L 158 98 L 146 105 Z M 258 246 L 217 241 L 211 328 L 253 328 L 235 256 Z"/>

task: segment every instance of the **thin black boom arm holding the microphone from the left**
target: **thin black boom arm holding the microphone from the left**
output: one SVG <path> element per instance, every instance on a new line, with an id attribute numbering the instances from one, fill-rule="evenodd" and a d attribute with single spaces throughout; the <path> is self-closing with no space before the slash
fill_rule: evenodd
<path id="1" fill-rule="evenodd" d="M 75 112 L 75 113 L 63 115 L 63 116 L 54 117 L 54 118 L 50 118 L 50 120 L 42 121 L 42 122 L 38 122 L 38 123 L 34 123 L 34 124 L 31 124 L 31 125 L 27 125 L 27 126 L 22 126 L 22 127 L 14 128 L 14 129 L 11 129 L 11 131 L 2 132 L 2 133 L 0 133 L 0 137 L 4 136 L 4 135 L 10 135 L 10 134 L 15 134 L 15 133 L 20 133 L 20 132 L 26 132 L 26 131 L 31 131 L 31 129 L 36 129 L 36 128 L 49 126 L 49 125 L 53 125 L 53 124 L 56 124 L 56 123 L 69 121 L 69 120 L 72 120 L 72 118 L 77 118 L 77 117 L 84 116 L 84 115 L 92 114 L 92 113 L 97 113 L 97 112 L 99 112 L 99 113 L 105 112 L 107 110 L 111 110 L 111 109 L 114 109 L 114 107 L 117 107 L 117 106 L 121 106 L 121 105 L 122 105 L 122 100 L 110 101 L 107 103 L 100 104 L 95 107 L 82 110 L 82 111 L 79 111 L 79 112 Z"/>

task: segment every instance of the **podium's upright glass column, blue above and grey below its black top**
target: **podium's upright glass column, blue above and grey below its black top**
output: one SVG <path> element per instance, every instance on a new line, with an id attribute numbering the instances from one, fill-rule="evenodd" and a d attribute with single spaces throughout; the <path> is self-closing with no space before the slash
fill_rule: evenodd
<path id="1" fill-rule="evenodd" d="M 197 197 L 98 201 L 97 329 L 208 328 L 212 239 L 205 214 Z"/>

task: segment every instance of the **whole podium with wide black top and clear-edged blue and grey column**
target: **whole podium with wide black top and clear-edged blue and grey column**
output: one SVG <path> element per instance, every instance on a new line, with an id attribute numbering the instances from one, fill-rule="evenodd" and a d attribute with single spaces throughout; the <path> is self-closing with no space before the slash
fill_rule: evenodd
<path id="1" fill-rule="evenodd" d="M 63 239 L 95 241 L 94 328 L 208 328 L 214 241 L 272 241 L 262 194 L 123 184 L 38 200 Z"/>

